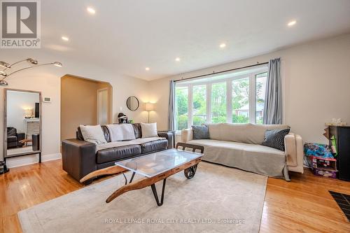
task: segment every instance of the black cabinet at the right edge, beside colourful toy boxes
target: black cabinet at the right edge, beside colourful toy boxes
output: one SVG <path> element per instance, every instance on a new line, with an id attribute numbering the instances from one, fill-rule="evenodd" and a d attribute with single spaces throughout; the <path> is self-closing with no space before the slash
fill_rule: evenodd
<path id="1" fill-rule="evenodd" d="M 350 181 L 350 127 L 330 126 L 329 136 L 330 138 L 335 136 L 337 142 L 336 159 L 339 179 Z"/>

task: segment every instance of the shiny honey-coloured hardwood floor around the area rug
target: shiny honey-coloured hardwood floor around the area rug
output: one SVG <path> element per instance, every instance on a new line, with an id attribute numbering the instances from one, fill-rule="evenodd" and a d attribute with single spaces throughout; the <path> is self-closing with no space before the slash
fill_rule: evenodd
<path id="1" fill-rule="evenodd" d="M 350 195 L 349 182 L 320 178 L 309 170 L 291 175 L 291 182 L 268 178 L 260 232 L 350 232 L 328 192 Z M 10 169 L 0 175 L 0 233 L 21 232 L 18 211 L 83 187 L 62 170 L 61 160 Z"/>

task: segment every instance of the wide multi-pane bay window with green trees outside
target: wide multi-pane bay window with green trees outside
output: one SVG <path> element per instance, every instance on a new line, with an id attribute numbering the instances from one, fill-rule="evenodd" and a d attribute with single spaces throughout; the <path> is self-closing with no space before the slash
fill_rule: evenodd
<path id="1" fill-rule="evenodd" d="M 177 82 L 176 129 L 211 122 L 262 124 L 266 79 L 262 65 Z"/>

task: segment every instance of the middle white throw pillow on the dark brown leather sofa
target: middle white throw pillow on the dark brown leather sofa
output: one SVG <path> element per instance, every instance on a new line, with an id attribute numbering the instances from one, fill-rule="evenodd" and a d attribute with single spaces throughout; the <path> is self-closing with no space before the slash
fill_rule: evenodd
<path id="1" fill-rule="evenodd" d="M 106 125 L 109 129 L 111 141 L 133 140 L 135 138 L 134 127 L 131 124 Z"/>

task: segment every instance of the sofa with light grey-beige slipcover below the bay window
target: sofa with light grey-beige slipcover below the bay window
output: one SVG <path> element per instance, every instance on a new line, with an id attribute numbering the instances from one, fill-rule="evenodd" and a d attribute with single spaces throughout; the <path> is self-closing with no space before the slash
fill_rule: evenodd
<path id="1" fill-rule="evenodd" d="M 193 140 L 193 130 L 183 129 L 181 141 L 204 146 L 202 160 L 237 167 L 265 176 L 284 177 L 288 171 L 304 172 L 302 138 L 290 133 L 284 141 L 286 151 L 262 146 L 267 129 L 286 129 L 288 125 L 209 124 L 210 139 Z"/>

